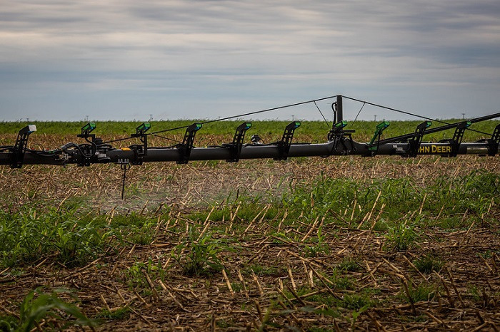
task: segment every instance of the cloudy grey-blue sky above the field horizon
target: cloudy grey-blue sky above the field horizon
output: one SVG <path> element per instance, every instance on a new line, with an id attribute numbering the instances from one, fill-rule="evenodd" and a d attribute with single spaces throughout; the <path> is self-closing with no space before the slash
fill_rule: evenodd
<path id="1" fill-rule="evenodd" d="M 4 121 L 216 119 L 337 94 L 474 118 L 499 93 L 498 0 L 0 0 Z M 359 119 L 375 116 L 415 119 Z"/>

